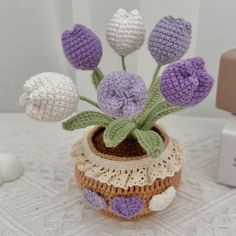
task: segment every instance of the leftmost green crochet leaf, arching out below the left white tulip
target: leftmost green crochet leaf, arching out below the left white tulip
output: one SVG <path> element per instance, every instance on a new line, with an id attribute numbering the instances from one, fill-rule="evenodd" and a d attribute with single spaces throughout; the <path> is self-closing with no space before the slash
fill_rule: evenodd
<path id="1" fill-rule="evenodd" d="M 108 126 L 113 121 L 112 118 L 96 111 L 81 112 L 62 123 L 66 130 L 85 128 L 91 125 Z"/>

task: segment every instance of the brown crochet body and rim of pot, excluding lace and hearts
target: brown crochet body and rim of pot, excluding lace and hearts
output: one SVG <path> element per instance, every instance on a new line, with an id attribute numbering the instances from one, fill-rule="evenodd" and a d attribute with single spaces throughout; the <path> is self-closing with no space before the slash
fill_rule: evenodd
<path id="1" fill-rule="evenodd" d="M 147 154 L 127 157 L 127 156 L 120 156 L 120 153 L 116 156 L 110 155 L 109 153 L 112 150 L 105 151 L 106 153 L 100 152 L 98 149 L 101 149 L 101 147 L 96 148 L 97 144 L 94 143 L 94 140 L 96 140 L 96 137 L 102 132 L 102 130 L 103 128 L 101 127 L 95 127 L 88 133 L 86 137 L 90 151 L 94 153 L 97 156 L 97 158 L 106 159 L 108 161 L 111 160 L 113 162 L 116 161 L 117 163 L 120 163 L 120 162 L 128 163 L 129 161 L 133 161 L 133 160 L 141 160 L 144 158 L 150 158 L 147 156 Z M 164 132 L 164 130 L 162 130 L 158 126 L 156 126 L 154 130 L 162 136 L 164 140 L 164 146 L 166 148 L 169 143 L 168 135 Z M 72 156 L 74 157 L 77 157 L 78 155 L 75 151 L 76 148 L 78 147 L 75 145 L 72 151 Z M 140 150 L 138 150 L 137 152 L 142 153 L 142 151 Z M 82 151 L 81 156 L 86 156 L 86 154 L 83 153 Z M 85 163 L 86 162 L 88 162 L 88 160 L 85 160 Z M 87 176 L 85 171 L 81 170 L 79 165 L 76 165 L 75 175 L 76 175 L 77 183 L 81 190 L 89 189 L 95 192 L 96 194 L 98 194 L 103 199 L 105 199 L 107 207 L 101 210 L 103 213 L 110 216 L 117 217 L 119 219 L 125 219 L 125 220 L 135 220 L 135 219 L 139 219 L 143 216 L 150 214 L 152 211 L 149 209 L 149 202 L 152 199 L 152 197 L 164 192 L 170 186 L 173 186 L 175 189 L 177 189 L 180 183 L 180 178 L 181 178 L 181 172 L 179 170 L 175 172 L 172 176 L 167 176 L 165 178 L 156 178 L 153 181 L 153 183 L 150 185 L 144 185 L 144 186 L 134 185 L 134 186 L 128 186 L 126 188 L 121 188 L 121 187 L 114 186 L 113 184 L 110 184 L 110 183 L 104 183 L 99 180 L 95 180 L 91 176 Z M 114 197 L 139 198 L 141 199 L 143 203 L 143 208 L 140 209 L 132 217 L 123 217 L 122 215 L 117 214 L 117 212 L 114 213 L 114 211 L 112 210 L 111 202 L 112 202 L 112 199 L 114 199 Z"/>

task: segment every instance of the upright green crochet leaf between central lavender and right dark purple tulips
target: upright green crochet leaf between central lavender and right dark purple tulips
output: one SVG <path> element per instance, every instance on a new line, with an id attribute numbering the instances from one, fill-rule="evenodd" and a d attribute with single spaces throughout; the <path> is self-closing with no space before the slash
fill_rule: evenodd
<path id="1" fill-rule="evenodd" d="M 153 109 L 157 104 L 162 102 L 164 98 L 160 92 L 159 77 L 152 81 L 149 90 L 148 90 L 148 101 L 145 105 L 144 110 L 140 113 L 139 116 L 135 118 L 135 122 L 138 127 L 141 127 L 145 119 L 152 113 Z"/>

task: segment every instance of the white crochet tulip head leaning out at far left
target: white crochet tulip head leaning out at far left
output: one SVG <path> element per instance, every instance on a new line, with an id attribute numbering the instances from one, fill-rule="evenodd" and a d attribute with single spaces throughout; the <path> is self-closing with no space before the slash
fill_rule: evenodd
<path id="1" fill-rule="evenodd" d="M 26 114 L 35 120 L 59 121 L 66 118 L 73 113 L 79 98 L 74 82 L 54 72 L 31 77 L 23 89 L 20 104 L 26 105 Z"/>

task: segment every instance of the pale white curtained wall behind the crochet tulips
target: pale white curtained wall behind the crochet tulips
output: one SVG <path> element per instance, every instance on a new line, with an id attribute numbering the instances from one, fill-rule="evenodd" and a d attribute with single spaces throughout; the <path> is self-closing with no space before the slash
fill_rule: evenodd
<path id="1" fill-rule="evenodd" d="M 164 15 L 192 22 L 192 45 L 185 57 L 202 56 L 208 71 L 217 78 L 220 55 L 236 47 L 235 0 L 1 0 L 0 1 L 0 112 L 22 111 L 18 96 L 25 79 L 42 71 L 57 71 L 76 78 L 82 95 L 95 98 L 90 72 L 74 71 L 65 60 L 60 34 L 75 23 L 90 27 L 103 43 L 100 67 L 105 73 L 121 68 L 119 57 L 108 46 L 105 29 L 118 8 L 138 8 L 147 35 Z M 149 84 L 155 62 L 146 49 L 127 58 L 128 70 Z M 215 91 L 186 113 L 196 116 L 227 116 L 215 108 Z M 80 103 L 79 110 L 90 109 Z"/>

